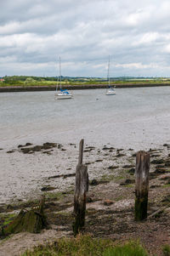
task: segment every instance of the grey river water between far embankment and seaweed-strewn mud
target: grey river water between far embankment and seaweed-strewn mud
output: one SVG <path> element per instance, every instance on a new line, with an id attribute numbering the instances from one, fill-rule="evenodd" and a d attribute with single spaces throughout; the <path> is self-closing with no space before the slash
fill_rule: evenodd
<path id="1" fill-rule="evenodd" d="M 55 141 L 144 149 L 170 142 L 170 87 L 0 94 L 0 148 Z"/>

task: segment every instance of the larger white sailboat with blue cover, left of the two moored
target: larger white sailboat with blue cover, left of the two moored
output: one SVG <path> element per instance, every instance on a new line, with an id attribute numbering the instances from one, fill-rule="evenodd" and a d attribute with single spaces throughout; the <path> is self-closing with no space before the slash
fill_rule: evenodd
<path id="1" fill-rule="evenodd" d="M 58 91 L 58 82 L 59 82 L 59 91 Z M 61 59 L 60 59 L 60 56 L 59 56 L 59 77 L 58 77 L 58 82 L 57 82 L 55 98 L 57 100 L 71 99 L 72 98 L 72 93 L 69 92 L 66 89 L 62 89 L 61 88 Z"/>

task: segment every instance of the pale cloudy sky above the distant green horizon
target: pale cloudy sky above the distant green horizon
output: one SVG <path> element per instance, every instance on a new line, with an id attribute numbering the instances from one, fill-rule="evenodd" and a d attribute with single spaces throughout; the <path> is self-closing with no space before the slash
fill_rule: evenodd
<path id="1" fill-rule="evenodd" d="M 0 3 L 0 77 L 170 77 L 170 1 Z"/>

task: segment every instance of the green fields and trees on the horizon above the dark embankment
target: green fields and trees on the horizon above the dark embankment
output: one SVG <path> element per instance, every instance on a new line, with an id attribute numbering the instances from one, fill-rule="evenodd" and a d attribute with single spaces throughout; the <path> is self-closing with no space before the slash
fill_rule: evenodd
<path id="1" fill-rule="evenodd" d="M 0 87 L 27 87 L 27 86 L 56 86 L 58 77 L 28 77 L 28 76 L 12 76 L 2 77 L 4 81 L 0 82 Z M 62 84 L 65 85 L 101 85 L 107 84 L 107 79 L 101 77 L 62 77 Z M 163 77 L 111 77 L 112 85 L 119 84 L 170 84 L 170 78 Z"/>

